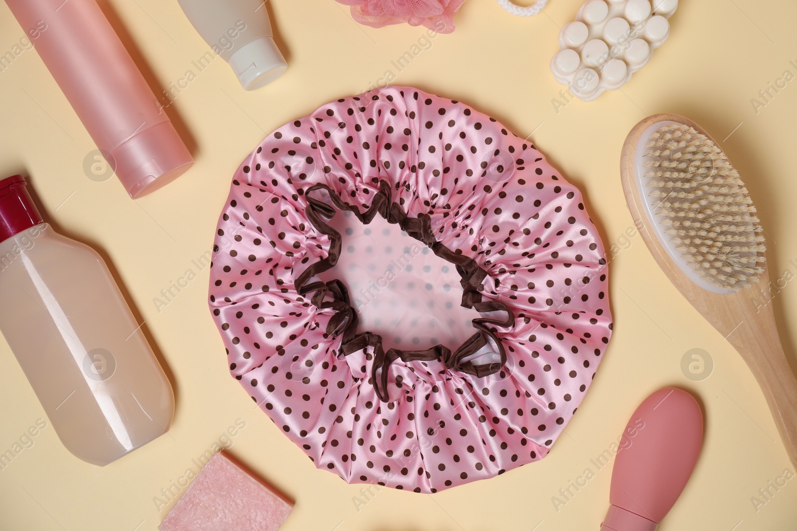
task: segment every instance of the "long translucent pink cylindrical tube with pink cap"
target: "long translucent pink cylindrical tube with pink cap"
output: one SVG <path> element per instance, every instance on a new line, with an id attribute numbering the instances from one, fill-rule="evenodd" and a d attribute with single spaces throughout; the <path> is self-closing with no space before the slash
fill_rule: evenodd
<path id="1" fill-rule="evenodd" d="M 130 197 L 194 159 L 95 0 L 6 0 Z"/>

